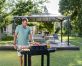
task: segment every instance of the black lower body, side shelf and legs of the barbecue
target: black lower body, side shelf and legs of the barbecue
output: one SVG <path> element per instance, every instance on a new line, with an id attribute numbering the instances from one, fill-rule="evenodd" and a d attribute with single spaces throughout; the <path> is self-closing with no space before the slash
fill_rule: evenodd
<path id="1" fill-rule="evenodd" d="M 50 66 L 50 53 L 55 52 L 55 48 L 49 48 L 47 50 L 30 50 L 21 51 L 24 55 L 24 66 L 27 66 L 27 55 L 28 55 L 28 66 L 31 66 L 31 56 L 41 55 L 41 66 L 44 66 L 44 55 L 47 56 L 47 66 Z"/>

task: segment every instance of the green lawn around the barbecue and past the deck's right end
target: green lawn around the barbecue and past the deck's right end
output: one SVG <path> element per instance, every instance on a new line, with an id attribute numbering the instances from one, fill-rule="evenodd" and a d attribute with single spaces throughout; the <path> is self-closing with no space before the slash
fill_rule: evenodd
<path id="1" fill-rule="evenodd" d="M 80 46 L 80 51 L 56 51 L 51 53 L 50 66 L 82 66 L 82 38 L 70 37 L 70 40 L 72 44 Z M 40 66 L 40 59 L 40 56 L 33 56 L 32 66 Z M 16 52 L 0 51 L 0 66 L 19 66 Z"/>

